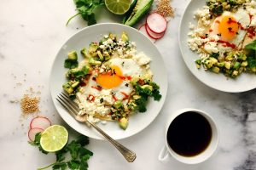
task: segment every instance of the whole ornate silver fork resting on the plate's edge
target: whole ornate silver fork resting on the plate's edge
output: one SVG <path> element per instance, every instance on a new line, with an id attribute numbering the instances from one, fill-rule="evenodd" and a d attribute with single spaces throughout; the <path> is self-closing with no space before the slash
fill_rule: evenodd
<path id="1" fill-rule="evenodd" d="M 86 116 L 79 116 L 79 105 L 69 99 L 67 94 L 61 92 L 56 99 L 78 122 L 87 122 L 92 127 L 95 127 L 99 133 L 101 133 L 111 144 L 115 146 L 116 149 L 119 150 L 127 161 L 132 162 L 136 159 L 136 154 L 133 151 L 127 149 L 125 146 L 112 139 L 107 133 L 104 133 L 100 127 L 97 127 L 95 123 L 88 121 Z"/>

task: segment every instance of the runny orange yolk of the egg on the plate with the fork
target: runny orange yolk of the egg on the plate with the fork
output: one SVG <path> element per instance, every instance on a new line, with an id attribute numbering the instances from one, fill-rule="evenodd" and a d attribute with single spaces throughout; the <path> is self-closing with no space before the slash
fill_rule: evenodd
<path id="1" fill-rule="evenodd" d="M 105 89 L 118 87 L 122 82 L 123 73 L 119 66 L 111 67 L 112 73 L 103 73 L 96 77 L 96 82 Z"/>

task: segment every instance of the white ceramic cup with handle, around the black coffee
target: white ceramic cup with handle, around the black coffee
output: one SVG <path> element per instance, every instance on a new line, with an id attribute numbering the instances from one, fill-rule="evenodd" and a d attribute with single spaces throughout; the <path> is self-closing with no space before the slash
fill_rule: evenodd
<path id="1" fill-rule="evenodd" d="M 199 155 L 196 155 L 196 156 L 181 156 L 181 155 L 178 155 L 174 150 L 172 150 L 172 148 L 170 147 L 170 145 L 168 144 L 168 141 L 167 141 L 167 132 L 168 132 L 168 128 L 170 127 L 172 121 L 177 116 L 179 116 L 179 115 L 181 115 L 185 112 L 188 112 L 188 111 L 192 111 L 192 112 L 200 114 L 201 116 L 204 116 L 207 119 L 207 121 L 209 122 L 209 124 L 212 128 L 212 139 L 210 141 L 210 144 L 208 144 L 206 150 L 202 151 Z M 162 150 L 160 151 L 160 155 L 158 157 L 160 161 L 168 161 L 168 160 L 170 160 L 170 158 L 172 156 L 177 161 L 181 161 L 181 162 L 186 163 L 186 164 L 201 163 L 202 161 L 206 161 L 209 157 L 211 157 L 212 154 L 214 153 L 214 151 L 217 149 L 217 146 L 218 146 L 218 128 L 217 128 L 215 122 L 213 121 L 212 117 L 209 116 L 206 112 L 199 111 L 199 110 L 196 110 L 196 109 L 191 109 L 191 108 L 185 108 L 185 109 L 175 111 L 172 114 L 172 116 L 169 118 L 169 121 L 166 124 L 165 141 L 166 141 L 166 145 L 163 146 Z"/>

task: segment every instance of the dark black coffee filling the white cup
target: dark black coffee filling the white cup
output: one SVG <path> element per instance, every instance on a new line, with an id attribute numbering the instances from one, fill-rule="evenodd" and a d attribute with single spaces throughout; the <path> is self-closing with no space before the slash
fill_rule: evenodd
<path id="1" fill-rule="evenodd" d="M 177 116 L 167 131 L 172 150 L 181 156 L 196 156 L 207 149 L 212 139 L 212 128 L 204 116 L 184 112 Z"/>

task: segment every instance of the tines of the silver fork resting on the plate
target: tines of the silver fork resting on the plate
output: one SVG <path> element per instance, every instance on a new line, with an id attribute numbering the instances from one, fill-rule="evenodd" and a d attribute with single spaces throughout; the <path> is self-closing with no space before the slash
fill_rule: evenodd
<path id="1" fill-rule="evenodd" d="M 79 113 L 79 105 L 77 105 L 74 101 L 69 99 L 67 94 L 61 92 L 61 94 L 57 95 L 57 101 L 73 116 L 77 116 Z"/>

